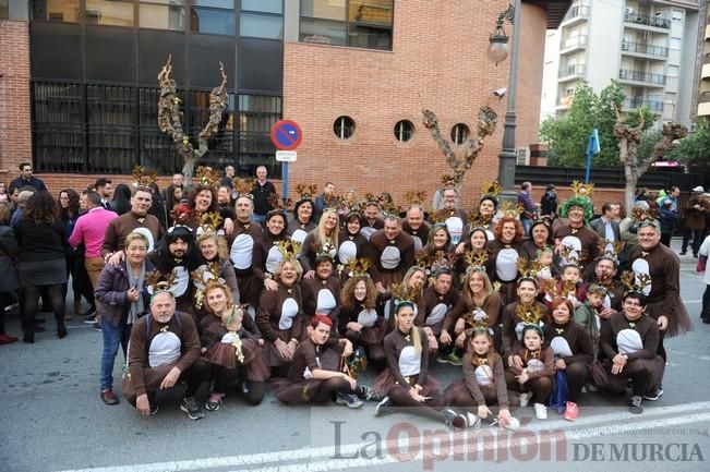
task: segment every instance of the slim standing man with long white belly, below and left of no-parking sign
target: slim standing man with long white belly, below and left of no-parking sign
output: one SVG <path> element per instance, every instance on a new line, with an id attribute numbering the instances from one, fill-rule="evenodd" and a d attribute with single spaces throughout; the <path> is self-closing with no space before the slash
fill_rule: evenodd
<path id="1" fill-rule="evenodd" d="M 255 279 L 252 269 L 254 258 L 254 244 L 263 238 L 262 227 L 252 222 L 254 201 L 250 194 L 242 193 L 234 202 L 234 231 L 229 241 L 229 259 L 234 265 L 237 283 L 242 303 L 251 303 L 254 308 L 258 303 L 258 295 L 264 287 L 261 280 Z"/>

